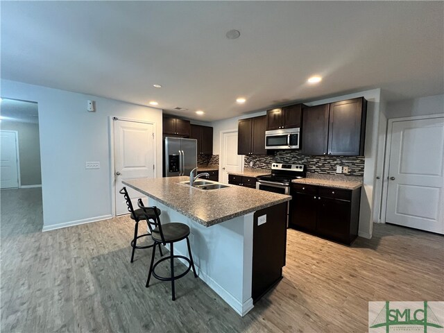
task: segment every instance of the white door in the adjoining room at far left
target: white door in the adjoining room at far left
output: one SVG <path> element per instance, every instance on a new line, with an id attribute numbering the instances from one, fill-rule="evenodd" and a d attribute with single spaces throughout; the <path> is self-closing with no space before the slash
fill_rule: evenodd
<path id="1" fill-rule="evenodd" d="M 0 188 L 19 187 L 19 168 L 17 160 L 17 133 L 0 131 Z"/>

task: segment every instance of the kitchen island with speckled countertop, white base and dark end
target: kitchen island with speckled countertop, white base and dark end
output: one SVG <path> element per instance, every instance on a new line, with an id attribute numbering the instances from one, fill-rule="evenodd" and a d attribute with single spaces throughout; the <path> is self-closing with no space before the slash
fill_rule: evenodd
<path id="1" fill-rule="evenodd" d="M 140 178 L 123 184 L 162 210 L 162 223 L 189 225 L 198 276 L 244 316 L 282 278 L 287 202 L 291 196 L 230 186 L 203 190 L 188 177 Z M 183 243 L 183 244 L 182 244 Z M 187 256 L 185 241 L 175 253 Z"/>

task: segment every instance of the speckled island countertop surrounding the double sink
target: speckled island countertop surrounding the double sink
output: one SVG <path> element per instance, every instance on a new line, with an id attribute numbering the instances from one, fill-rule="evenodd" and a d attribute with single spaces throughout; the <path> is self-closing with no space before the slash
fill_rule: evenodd
<path id="1" fill-rule="evenodd" d="M 189 177 L 139 178 L 123 184 L 205 227 L 291 200 L 291 196 L 235 185 L 203 190 L 179 183 L 186 180 Z"/>

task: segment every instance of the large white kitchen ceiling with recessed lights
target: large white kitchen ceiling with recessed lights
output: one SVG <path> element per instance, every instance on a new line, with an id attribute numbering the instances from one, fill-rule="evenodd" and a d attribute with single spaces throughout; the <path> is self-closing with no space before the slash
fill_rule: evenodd
<path id="1" fill-rule="evenodd" d="M 1 77 L 202 121 L 376 87 L 397 101 L 443 94 L 443 13 L 443 1 L 2 1 Z"/>

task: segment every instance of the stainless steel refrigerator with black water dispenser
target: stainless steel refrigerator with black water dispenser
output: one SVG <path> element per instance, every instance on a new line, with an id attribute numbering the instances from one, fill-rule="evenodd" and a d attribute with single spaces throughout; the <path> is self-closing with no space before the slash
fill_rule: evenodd
<path id="1" fill-rule="evenodd" d="M 164 177 L 189 176 L 197 167 L 197 140 L 180 137 L 164 139 Z"/>

